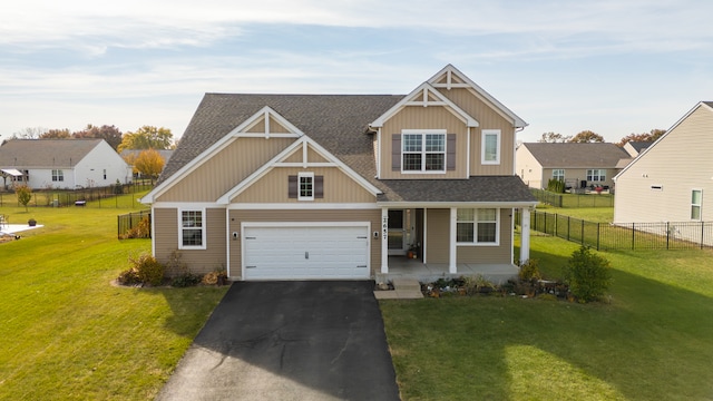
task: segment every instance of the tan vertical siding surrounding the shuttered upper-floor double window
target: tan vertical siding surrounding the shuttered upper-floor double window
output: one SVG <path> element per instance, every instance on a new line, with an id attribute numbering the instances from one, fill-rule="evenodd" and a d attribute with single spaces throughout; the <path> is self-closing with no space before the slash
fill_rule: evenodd
<path id="1" fill-rule="evenodd" d="M 456 170 L 446 174 L 401 174 L 391 170 L 391 136 L 401 134 L 402 129 L 446 129 L 456 134 Z M 381 177 L 383 179 L 417 178 L 465 178 L 467 177 L 467 137 L 466 124 L 445 107 L 409 106 L 391 117 L 381 129 Z"/>

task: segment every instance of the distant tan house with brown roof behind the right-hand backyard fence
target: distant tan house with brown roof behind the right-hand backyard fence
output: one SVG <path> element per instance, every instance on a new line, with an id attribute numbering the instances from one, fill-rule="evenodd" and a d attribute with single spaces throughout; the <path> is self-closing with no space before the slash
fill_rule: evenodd
<path id="1" fill-rule="evenodd" d="M 567 188 L 611 188 L 617 164 L 628 154 L 605 143 L 529 143 L 516 153 L 516 172 L 531 188 L 546 189 L 550 179 Z"/>

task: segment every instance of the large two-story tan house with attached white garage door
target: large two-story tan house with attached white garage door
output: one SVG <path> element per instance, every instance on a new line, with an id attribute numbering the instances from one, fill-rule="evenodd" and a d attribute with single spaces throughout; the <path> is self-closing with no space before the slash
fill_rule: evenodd
<path id="1" fill-rule="evenodd" d="M 207 94 L 141 199 L 153 253 L 233 280 L 369 278 L 408 251 L 517 274 L 525 126 L 450 65 L 406 96 Z"/>

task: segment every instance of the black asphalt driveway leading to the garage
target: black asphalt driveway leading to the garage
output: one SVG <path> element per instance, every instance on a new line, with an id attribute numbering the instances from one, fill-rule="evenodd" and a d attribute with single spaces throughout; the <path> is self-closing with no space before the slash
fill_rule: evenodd
<path id="1" fill-rule="evenodd" d="M 157 400 L 399 400 L 373 282 L 236 282 Z"/>

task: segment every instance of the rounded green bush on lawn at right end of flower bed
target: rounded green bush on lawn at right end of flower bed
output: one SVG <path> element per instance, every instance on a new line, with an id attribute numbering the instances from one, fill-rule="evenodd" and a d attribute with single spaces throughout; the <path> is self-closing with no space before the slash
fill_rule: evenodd
<path id="1" fill-rule="evenodd" d="M 563 278 L 569 284 L 569 292 L 578 302 L 586 303 L 600 299 L 612 284 L 611 263 L 580 246 L 573 252 L 563 270 Z"/>

